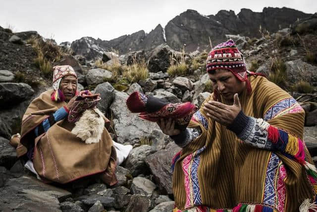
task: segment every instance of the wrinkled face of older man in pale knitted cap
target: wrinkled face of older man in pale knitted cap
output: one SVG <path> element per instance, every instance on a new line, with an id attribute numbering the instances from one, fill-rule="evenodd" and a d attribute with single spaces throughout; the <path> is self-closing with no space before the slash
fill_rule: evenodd
<path id="1" fill-rule="evenodd" d="M 73 75 L 64 76 L 59 84 L 59 89 L 65 96 L 65 101 L 69 101 L 76 93 L 77 79 Z"/>

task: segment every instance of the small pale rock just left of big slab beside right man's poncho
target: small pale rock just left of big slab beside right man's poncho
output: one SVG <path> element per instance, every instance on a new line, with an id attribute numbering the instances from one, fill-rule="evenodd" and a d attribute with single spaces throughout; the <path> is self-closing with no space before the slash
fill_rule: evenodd
<path id="1" fill-rule="evenodd" d="M 133 178 L 131 185 L 132 194 L 139 194 L 149 197 L 152 196 L 155 188 L 156 185 L 151 180 L 148 180 L 144 177 Z"/>

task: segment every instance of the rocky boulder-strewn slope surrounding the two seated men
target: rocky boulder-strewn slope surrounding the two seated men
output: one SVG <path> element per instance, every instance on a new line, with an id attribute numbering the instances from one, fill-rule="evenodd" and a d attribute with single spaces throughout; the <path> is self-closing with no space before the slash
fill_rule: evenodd
<path id="1" fill-rule="evenodd" d="M 313 16 L 305 24 L 311 24 L 309 29 L 316 30 L 316 22 Z M 306 112 L 304 141 L 317 161 L 317 59 L 314 59 L 317 57 L 317 31 L 298 31 L 296 26 L 302 23 L 257 39 L 227 37 L 237 42 L 250 70 L 269 75 L 273 61 L 283 61 L 285 89 L 301 102 Z M 148 77 L 123 83 L 126 79 L 120 76 L 123 87 L 117 86 L 118 81 L 109 80 L 113 71 L 98 68 L 92 56 L 84 57 L 89 55 L 89 48 L 81 55 L 64 54 L 60 60 L 51 61 L 52 65 L 74 67 L 80 89 L 86 87 L 101 93 L 98 107 L 111 120 L 109 132 L 113 140 L 134 147 L 126 161 L 117 167 L 119 182 L 113 187 L 95 178 L 68 185 L 47 185 L 26 171 L 16 158 L 15 149 L 8 144 L 11 135 L 19 132 L 22 115 L 30 101 L 51 86 L 50 76 L 34 64 L 38 52 L 26 42 L 32 36 L 39 37 L 36 32 L 12 33 L 0 27 L 0 211 L 171 211 L 174 202 L 170 161 L 180 148 L 163 135 L 156 124 L 131 114 L 125 107 L 125 100 L 138 90 L 170 102 L 191 101 L 201 105 L 211 93 L 210 80 L 204 70 L 206 52 L 183 54 L 166 44 L 160 44 L 149 53 L 138 51 L 116 56 L 104 52 L 100 59 L 109 66 L 114 61 L 120 64 L 118 66 L 125 66 L 133 63 L 133 59 L 146 60 Z M 313 54 L 313 59 L 307 57 L 308 52 Z M 166 73 L 171 56 L 182 54 L 189 67 L 188 74 L 172 76 Z M 194 66 L 195 60 L 203 62 Z M 310 93 L 295 91 L 292 85 L 300 80 L 315 88 Z"/>

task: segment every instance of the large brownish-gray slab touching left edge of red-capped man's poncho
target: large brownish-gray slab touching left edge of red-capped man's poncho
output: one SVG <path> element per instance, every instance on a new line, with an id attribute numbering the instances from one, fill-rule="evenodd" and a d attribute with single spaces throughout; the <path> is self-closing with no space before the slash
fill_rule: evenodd
<path id="1" fill-rule="evenodd" d="M 174 155 L 179 152 L 181 148 L 174 142 L 170 142 L 166 149 L 161 149 L 152 155 L 149 155 L 145 161 L 150 167 L 154 176 L 154 181 L 165 194 L 172 194 L 172 171 L 170 165 Z"/>

